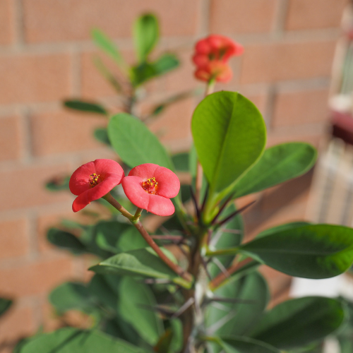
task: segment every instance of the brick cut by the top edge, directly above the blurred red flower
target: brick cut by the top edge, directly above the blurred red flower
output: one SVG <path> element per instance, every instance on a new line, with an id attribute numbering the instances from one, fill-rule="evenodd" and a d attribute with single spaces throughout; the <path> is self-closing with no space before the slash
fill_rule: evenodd
<path id="1" fill-rule="evenodd" d="M 277 0 L 213 0 L 210 11 L 211 32 L 270 32 L 277 3 Z"/>

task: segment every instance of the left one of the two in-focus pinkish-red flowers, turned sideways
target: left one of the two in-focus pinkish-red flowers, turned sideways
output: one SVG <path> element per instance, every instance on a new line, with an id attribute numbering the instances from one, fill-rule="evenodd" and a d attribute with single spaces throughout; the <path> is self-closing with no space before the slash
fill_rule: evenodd
<path id="1" fill-rule="evenodd" d="M 73 212 L 109 193 L 124 177 L 124 170 L 114 160 L 95 160 L 81 165 L 68 183 L 71 193 L 78 196 L 72 204 Z"/>

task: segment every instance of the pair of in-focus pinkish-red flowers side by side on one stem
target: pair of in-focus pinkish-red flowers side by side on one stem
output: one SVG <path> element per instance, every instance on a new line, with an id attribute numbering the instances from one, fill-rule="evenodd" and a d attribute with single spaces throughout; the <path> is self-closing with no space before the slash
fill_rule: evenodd
<path id="1" fill-rule="evenodd" d="M 73 212 L 102 198 L 119 184 L 138 208 L 160 216 L 174 213 L 174 205 L 169 199 L 179 193 L 180 181 L 176 174 L 157 164 L 146 163 L 134 167 L 125 177 L 124 170 L 114 160 L 88 162 L 73 172 L 69 181 L 71 193 L 77 196 Z"/>

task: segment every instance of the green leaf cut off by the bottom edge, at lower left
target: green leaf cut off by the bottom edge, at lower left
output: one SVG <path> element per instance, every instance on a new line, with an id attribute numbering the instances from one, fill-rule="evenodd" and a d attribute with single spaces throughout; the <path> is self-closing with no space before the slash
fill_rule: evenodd
<path id="1" fill-rule="evenodd" d="M 61 328 L 53 333 L 33 337 L 23 345 L 21 353 L 143 353 L 130 343 L 104 335 L 99 331 Z"/>

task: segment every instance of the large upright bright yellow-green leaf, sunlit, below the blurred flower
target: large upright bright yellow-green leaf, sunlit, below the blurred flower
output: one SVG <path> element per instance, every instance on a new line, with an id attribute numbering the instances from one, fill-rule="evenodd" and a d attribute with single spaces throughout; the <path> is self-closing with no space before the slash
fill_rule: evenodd
<path id="1" fill-rule="evenodd" d="M 193 141 L 211 189 L 232 185 L 261 157 L 266 130 L 258 109 L 236 92 L 216 92 L 198 104 Z"/>

